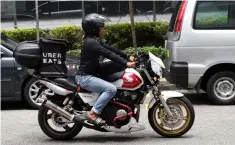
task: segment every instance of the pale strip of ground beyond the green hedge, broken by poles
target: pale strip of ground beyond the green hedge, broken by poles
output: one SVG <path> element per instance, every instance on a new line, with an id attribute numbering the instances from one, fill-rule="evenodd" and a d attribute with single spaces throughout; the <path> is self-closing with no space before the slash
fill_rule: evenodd
<path id="1" fill-rule="evenodd" d="M 111 23 L 124 23 L 124 22 L 130 22 L 129 15 L 121 17 L 109 17 L 111 19 Z M 157 14 L 156 15 L 157 20 L 162 21 L 170 21 L 171 14 Z M 119 21 L 120 19 L 120 21 Z M 141 21 L 152 21 L 153 15 L 139 15 L 135 16 L 134 20 L 137 22 Z M 50 29 L 52 27 L 60 26 L 60 25 L 67 25 L 67 24 L 75 24 L 80 25 L 81 24 L 81 18 L 71 18 L 71 19 L 52 19 L 52 20 L 39 20 L 39 27 L 43 29 Z M 17 22 L 18 28 L 35 28 L 36 27 L 36 21 L 35 20 L 29 20 L 29 21 L 18 21 Z M 1 29 L 13 29 L 14 28 L 14 22 L 1 22 Z"/>

